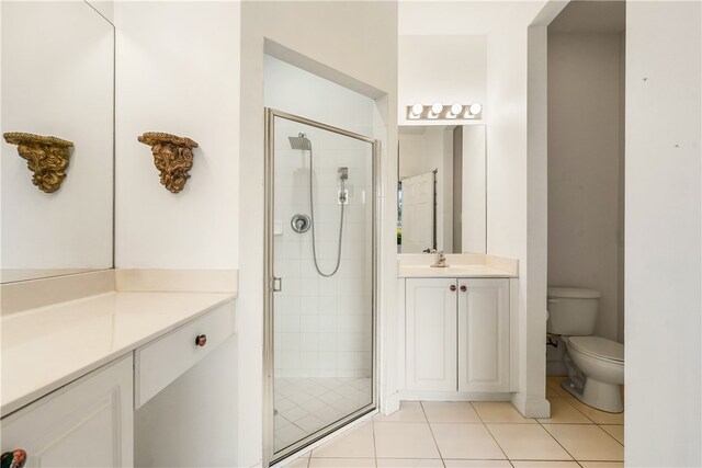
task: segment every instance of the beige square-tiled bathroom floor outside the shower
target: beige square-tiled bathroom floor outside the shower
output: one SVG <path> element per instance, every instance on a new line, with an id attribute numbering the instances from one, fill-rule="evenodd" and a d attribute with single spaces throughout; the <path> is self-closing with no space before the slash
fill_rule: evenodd
<path id="1" fill-rule="evenodd" d="M 624 415 L 589 408 L 547 378 L 550 419 L 509 402 L 403 402 L 288 464 L 332 467 L 623 467 Z"/>

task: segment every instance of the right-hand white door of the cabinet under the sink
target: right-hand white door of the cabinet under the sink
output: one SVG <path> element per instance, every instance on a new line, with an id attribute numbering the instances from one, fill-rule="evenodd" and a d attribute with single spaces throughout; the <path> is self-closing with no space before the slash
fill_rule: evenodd
<path id="1" fill-rule="evenodd" d="M 509 391 L 509 279 L 458 281 L 458 391 Z"/>

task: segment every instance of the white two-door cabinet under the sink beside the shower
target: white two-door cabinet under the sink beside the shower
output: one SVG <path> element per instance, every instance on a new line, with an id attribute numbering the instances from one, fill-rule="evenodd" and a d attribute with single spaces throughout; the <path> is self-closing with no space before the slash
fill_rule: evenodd
<path id="1" fill-rule="evenodd" d="M 509 279 L 405 279 L 405 387 L 510 391 Z"/>

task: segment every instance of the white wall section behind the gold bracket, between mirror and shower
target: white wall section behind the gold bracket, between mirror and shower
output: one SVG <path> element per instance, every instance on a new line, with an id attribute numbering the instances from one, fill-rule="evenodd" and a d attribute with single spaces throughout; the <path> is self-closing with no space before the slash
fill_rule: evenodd
<path id="1" fill-rule="evenodd" d="M 116 266 L 238 265 L 239 3 L 118 2 Z M 194 139 L 179 194 L 159 182 L 145 132 Z"/>

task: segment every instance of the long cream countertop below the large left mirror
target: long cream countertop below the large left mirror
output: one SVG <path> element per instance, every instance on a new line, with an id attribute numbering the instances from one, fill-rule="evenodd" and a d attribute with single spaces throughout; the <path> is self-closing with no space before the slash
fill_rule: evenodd
<path id="1" fill-rule="evenodd" d="M 3 316 L 0 414 L 235 297 L 228 293 L 105 293 Z"/>

